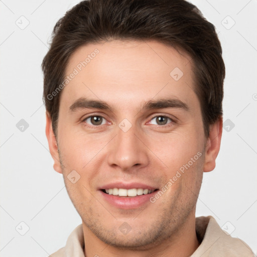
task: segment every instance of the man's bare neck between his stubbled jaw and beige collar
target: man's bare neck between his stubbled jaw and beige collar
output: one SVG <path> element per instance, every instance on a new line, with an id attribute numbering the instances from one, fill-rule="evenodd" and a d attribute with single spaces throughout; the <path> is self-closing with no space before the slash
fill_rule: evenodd
<path id="1" fill-rule="evenodd" d="M 120 249 L 112 245 L 108 245 L 97 238 L 90 229 L 83 224 L 84 233 L 84 254 L 89 256 L 105 256 L 105 257 L 186 257 L 193 254 L 199 246 L 195 231 L 195 214 L 189 216 L 186 222 L 179 227 L 176 234 L 171 235 L 165 241 L 157 245 L 148 245 L 144 249 L 131 250 Z"/>

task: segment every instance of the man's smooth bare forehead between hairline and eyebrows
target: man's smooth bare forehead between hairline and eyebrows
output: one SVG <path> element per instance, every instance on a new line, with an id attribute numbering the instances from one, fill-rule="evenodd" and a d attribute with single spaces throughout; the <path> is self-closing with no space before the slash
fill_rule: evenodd
<path id="1" fill-rule="evenodd" d="M 157 41 L 114 40 L 88 44 L 71 56 L 61 102 L 80 97 L 122 102 L 123 106 L 156 97 L 195 97 L 191 58 Z"/>

